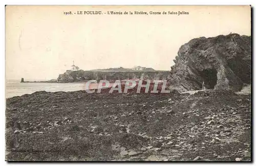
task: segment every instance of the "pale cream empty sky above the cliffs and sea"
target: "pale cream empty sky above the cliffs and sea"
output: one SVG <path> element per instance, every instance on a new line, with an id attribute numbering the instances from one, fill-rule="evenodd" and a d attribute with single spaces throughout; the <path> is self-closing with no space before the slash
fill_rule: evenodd
<path id="1" fill-rule="evenodd" d="M 104 14 L 108 11 L 148 15 Z M 73 61 L 82 70 L 170 70 L 180 46 L 191 39 L 230 32 L 250 36 L 250 12 L 250 6 L 7 6 L 6 78 L 56 79 Z"/>

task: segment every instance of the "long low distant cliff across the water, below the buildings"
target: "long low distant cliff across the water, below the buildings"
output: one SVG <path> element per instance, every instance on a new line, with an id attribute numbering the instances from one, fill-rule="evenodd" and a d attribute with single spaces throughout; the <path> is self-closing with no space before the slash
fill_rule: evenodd
<path id="1" fill-rule="evenodd" d="M 77 82 L 84 80 L 117 80 L 117 79 L 169 79 L 169 71 L 135 71 L 135 72 L 122 72 L 122 71 L 71 71 L 67 70 L 63 74 L 59 74 L 59 82 Z"/>

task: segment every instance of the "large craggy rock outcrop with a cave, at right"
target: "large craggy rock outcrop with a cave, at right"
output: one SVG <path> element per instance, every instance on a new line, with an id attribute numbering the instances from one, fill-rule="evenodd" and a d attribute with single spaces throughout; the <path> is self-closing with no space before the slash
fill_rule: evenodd
<path id="1" fill-rule="evenodd" d="M 251 37 L 229 34 L 196 38 L 182 45 L 169 79 L 180 92 L 202 89 L 239 91 L 251 82 Z"/>

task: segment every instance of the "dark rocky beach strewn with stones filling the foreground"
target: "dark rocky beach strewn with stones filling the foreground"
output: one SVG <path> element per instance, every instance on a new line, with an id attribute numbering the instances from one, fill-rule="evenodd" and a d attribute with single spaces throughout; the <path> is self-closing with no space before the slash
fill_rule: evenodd
<path id="1" fill-rule="evenodd" d="M 251 95 L 36 92 L 6 101 L 6 160 L 249 161 Z"/>

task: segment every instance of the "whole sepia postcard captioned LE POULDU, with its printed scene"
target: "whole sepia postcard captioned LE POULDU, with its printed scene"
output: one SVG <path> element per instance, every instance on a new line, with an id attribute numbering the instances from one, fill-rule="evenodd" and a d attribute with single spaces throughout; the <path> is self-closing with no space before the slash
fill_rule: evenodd
<path id="1" fill-rule="evenodd" d="M 6 6 L 7 161 L 251 161 L 251 6 Z"/>

